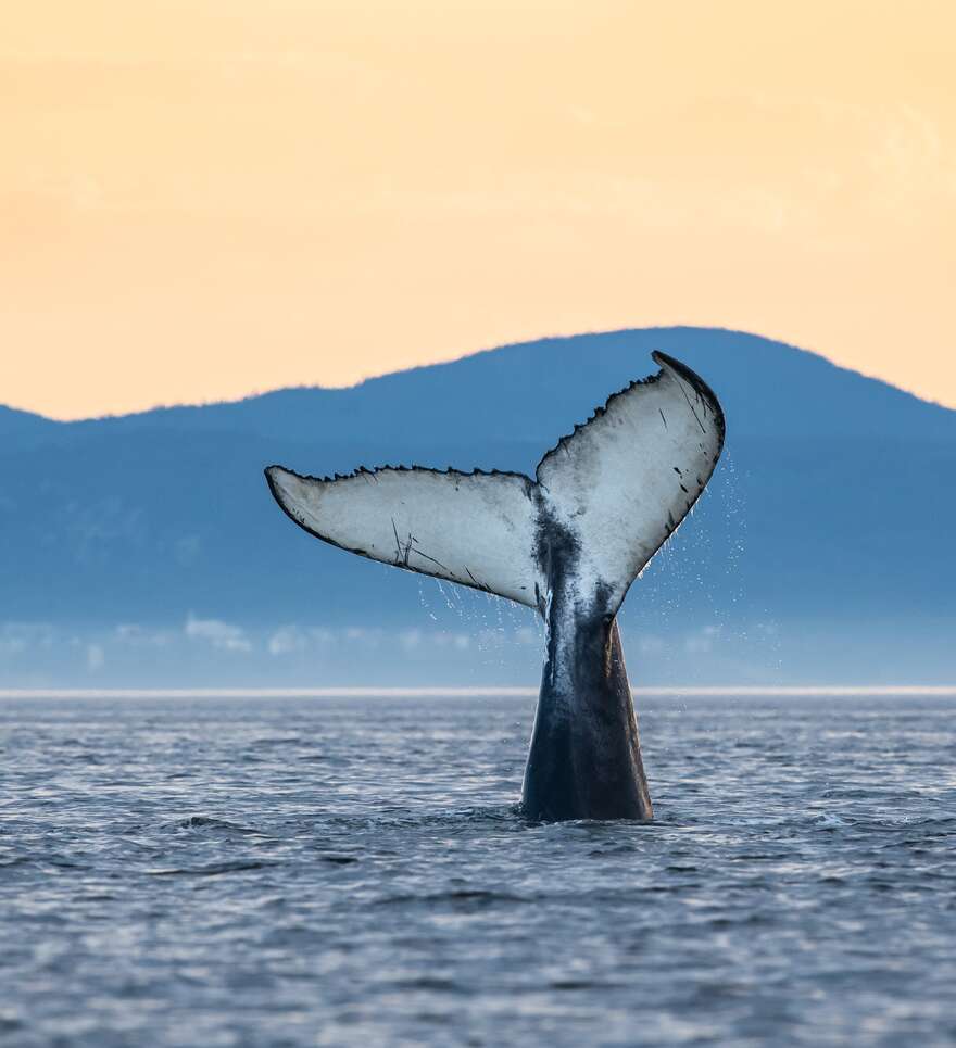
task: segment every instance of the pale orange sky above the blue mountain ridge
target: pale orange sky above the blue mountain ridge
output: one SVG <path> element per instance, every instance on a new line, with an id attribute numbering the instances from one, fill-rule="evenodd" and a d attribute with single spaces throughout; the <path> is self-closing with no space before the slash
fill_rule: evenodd
<path id="1" fill-rule="evenodd" d="M 0 403 L 700 324 L 956 406 L 954 40 L 951 0 L 4 4 Z"/>

